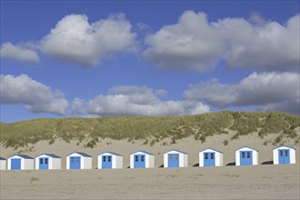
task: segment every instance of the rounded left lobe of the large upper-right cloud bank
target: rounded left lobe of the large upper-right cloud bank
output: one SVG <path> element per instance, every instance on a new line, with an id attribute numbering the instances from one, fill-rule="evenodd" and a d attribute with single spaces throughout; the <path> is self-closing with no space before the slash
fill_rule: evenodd
<path id="1" fill-rule="evenodd" d="M 185 12 L 176 25 L 165 25 L 146 38 L 145 57 L 165 68 L 211 70 L 225 46 L 204 13 Z"/>

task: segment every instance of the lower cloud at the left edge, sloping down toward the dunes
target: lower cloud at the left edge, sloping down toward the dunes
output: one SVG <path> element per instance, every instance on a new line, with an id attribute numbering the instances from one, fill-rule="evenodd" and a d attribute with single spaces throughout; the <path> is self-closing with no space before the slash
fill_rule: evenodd
<path id="1" fill-rule="evenodd" d="M 34 113 L 66 114 L 68 102 L 64 94 L 28 75 L 1 75 L 0 83 L 1 104 L 22 104 Z"/>

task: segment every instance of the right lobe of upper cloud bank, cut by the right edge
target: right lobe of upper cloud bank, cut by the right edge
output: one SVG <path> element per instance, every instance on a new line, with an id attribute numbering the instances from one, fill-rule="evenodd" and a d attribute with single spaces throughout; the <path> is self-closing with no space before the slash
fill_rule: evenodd
<path id="1" fill-rule="evenodd" d="M 223 28 L 222 33 L 229 35 L 230 48 L 225 52 L 227 65 L 264 68 L 270 71 L 299 69 L 300 15 L 291 17 L 286 25 L 267 22 L 264 25 L 248 25 L 248 28 L 243 28 L 241 24 L 248 22 L 227 19 L 218 23 Z M 235 35 L 232 34 L 232 29 Z"/>

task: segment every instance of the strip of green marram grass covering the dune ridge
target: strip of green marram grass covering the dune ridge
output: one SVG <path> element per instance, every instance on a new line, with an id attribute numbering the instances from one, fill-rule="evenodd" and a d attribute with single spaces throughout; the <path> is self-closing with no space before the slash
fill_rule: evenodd
<path id="1" fill-rule="evenodd" d="M 277 135 L 274 145 L 284 138 L 299 143 L 300 117 L 281 112 L 231 112 L 221 111 L 203 115 L 182 116 L 109 116 L 98 118 L 39 118 L 12 124 L 0 124 L 0 142 L 5 147 L 25 147 L 39 141 L 49 145 L 61 139 L 66 143 L 75 141 L 78 145 L 95 147 L 104 138 L 145 141 L 155 145 L 165 138 L 171 143 L 194 136 L 205 142 L 207 136 L 228 134 L 233 130 L 239 135 L 257 132 L 260 137 Z"/>

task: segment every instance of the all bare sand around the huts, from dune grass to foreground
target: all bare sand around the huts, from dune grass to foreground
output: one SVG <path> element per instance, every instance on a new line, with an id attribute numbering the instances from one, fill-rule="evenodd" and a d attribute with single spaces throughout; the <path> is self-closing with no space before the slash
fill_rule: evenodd
<path id="1" fill-rule="evenodd" d="M 142 145 L 127 141 L 102 141 L 90 149 L 75 143 L 56 141 L 35 144 L 35 157 L 42 153 L 60 155 L 63 169 L 54 171 L 1 171 L 1 199 L 299 199 L 299 145 L 296 148 L 295 165 L 255 165 L 193 167 L 198 164 L 198 152 L 213 147 L 224 153 L 224 164 L 235 162 L 235 149 L 248 145 L 259 151 L 259 163 L 272 161 L 272 146 L 263 145 L 274 139 L 269 135 L 260 139 L 246 135 L 230 141 L 231 135 L 207 138 L 202 144 L 193 137 L 177 141 L 175 145 Z M 229 140 L 228 145 L 223 141 Z M 111 144 L 111 145 L 107 145 Z M 29 146 L 28 148 L 30 148 Z M 188 153 L 188 167 L 161 168 L 163 154 L 170 149 Z M 26 150 L 26 149 L 24 149 Z M 155 168 L 128 169 L 129 155 L 137 150 L 155 154 Z M 93 156 L 92 170 L 65 170 L 65 155 L 82 151 Z M 113 151 L 124 155 L 124 169 L 97 170 L 96 155 Z M 1 155 L 14 155 L 11 148 L 1 148 Z"/>

